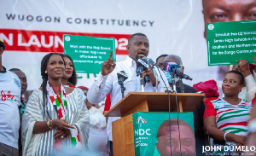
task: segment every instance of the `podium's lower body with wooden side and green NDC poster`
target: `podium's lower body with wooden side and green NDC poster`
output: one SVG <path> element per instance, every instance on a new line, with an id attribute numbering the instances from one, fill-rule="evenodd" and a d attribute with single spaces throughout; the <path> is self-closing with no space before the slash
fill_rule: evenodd
<path id="1" fill-rule="evenodd" d="M 193 113 L 171 113 L 170 115 L 171 134 L 173 134 L 171 135 L 172 154 L 175 155 L 177 150 L 179 151 L 176 145 L 179 137 L 177 134 L 180 134 L 181 140 L 187 139 L 189 144 L 182 144 L 182 146 L 189 146 L 187 147 L 190 149 L 191 154 L 189 155 L 195 155 Z M 177 126 L 177 118 L 179 126 Z M 114 122 L 114 155 L 160 156 L 160 153 L 168 155 L 171 152 L 169 113 L 133 113 Z M 130 124 L 132 124 L 132 128 Z M 118 130 L 114 130 L 117 126 Z"/>

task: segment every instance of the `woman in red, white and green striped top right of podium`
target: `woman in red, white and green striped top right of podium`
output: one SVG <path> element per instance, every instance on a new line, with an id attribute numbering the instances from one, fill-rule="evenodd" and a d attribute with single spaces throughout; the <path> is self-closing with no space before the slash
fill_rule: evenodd
<path id="1" fill-rule="evenodd" d="M 241 72 L 228 72 L 222 84 L 224 97 L 206 104 L 204 126 L 214 145 L 245 145 L 252 102 L 238 97 L 243 84 Z"/>

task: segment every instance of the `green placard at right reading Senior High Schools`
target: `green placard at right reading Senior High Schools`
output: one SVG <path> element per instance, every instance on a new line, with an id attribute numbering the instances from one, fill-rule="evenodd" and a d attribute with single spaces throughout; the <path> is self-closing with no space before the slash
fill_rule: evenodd
<path id="1" fill-rule="evenodd" d="M 207 24 L 208 65 L 256 63 L 256 20 Z"/>

